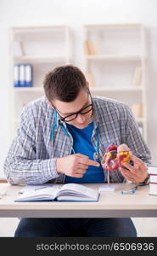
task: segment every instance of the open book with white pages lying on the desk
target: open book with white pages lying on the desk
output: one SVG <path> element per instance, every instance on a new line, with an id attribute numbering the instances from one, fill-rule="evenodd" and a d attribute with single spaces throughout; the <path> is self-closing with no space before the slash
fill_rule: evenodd
<path id="1" fill-rule="evenodd" d="M 27 190 L 15 201 L 98 201 L 98 196 L 98 190 L 67 183 Z"/>

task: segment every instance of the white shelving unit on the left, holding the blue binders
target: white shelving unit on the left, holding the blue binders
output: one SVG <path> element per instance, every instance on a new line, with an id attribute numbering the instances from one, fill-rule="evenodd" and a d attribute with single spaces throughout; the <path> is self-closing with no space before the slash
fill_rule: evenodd
<path id="1" fill-rule="evenodd" d="M 22 108 L 43 96 L 44 75 L 54 67 L 71 63 L 71 36 L 68 26 L 13 27 L 10 34 L 12 138 Z M 32 65 L 32 87 L 14 87 L 14 64 L 22 63 Z"/>

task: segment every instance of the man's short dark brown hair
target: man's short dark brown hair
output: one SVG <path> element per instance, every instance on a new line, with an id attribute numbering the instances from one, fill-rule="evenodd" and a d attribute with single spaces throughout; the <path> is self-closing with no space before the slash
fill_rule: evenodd
<path id="1" fill-rule="evenodd" d="M 87 80 L 78 67 L 64 65 L 46 74 L 43 86 L 49 102 L 73 102 L 81 89 L 87 89 Z"/>

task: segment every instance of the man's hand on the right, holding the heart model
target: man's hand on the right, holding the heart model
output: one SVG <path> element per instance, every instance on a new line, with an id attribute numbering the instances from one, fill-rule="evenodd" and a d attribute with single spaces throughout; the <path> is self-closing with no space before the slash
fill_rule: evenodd
<path id="1" fill-rule="evenodd" d="M 124 163 L 123 166 L 128 170 L 123 167 L 120 167 L 119 170 L 128 181 L 131 181 L 132 183 L 143 183 L 148 176 L 147 166 L 145 166 L 143 160 L 137 158 L 135 155 L 132 155 L 131 160 L 133 161 L 134 166 Z"/>

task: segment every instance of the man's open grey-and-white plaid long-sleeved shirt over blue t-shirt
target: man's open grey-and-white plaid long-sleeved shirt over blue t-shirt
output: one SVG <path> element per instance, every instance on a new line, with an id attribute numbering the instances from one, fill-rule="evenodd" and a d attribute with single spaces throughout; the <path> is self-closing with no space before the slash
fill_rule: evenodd
<path id="1" fill-rule="evenodd" d="M 93 97 L 93 106 L 92 143 L 96 148 L 98 127 L 100 158 L 104 156 L 109 144 L 125 143 L 133 154 L 149 163 L 149 148 L 138 131 L 131 109 L 125 103 L 98 96 Z M 56 170 L 56 159 L 71 154 L 73 138 L 57 115 L 52 139 L 54 111 L 45 96 L 24 108 L 17 135 L 4 162 L 4 172 L 9 183 L 64 183 L 64 174 L 58 174 Z M 63 125 L 66 132 L 62 129 Z M 105 172 L 104 182 L 107 179 Z M 109 172 L 109 179 L 111 183 L 126 181 L 119 170 Z"/>

